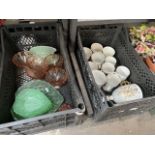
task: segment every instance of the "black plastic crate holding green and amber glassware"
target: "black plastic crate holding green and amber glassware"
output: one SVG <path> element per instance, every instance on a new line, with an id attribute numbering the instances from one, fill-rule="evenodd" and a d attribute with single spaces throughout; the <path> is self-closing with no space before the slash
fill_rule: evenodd
<path id="1" fill-rule="evenodd" d="M 67 84 L 60 88 L 60 93 L 64 96 L 65 102 L 71 103 L 74 108 L 31 119 L 13 121 L 10 108 L 14 101 L 17 85 L 15 82 L 16 66 L 12 64 L 12 57 L 16 52 L 29 50 L 36 45 L 53 46 L 63 56 L 69 79 Z M 2 124 L 0 124 L 0 134 L 33 134 L 82 122 L 85 105 L 75 80 L 60 22 L 5 26 L 1 30 L 1 47 L 0 123 Z"/>

